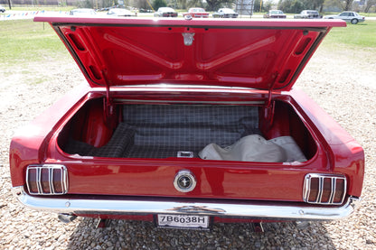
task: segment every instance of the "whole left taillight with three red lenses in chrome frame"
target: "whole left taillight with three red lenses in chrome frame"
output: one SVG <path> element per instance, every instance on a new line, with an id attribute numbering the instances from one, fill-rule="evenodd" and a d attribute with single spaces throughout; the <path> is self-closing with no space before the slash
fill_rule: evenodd
<path id="1" fill-rule="evenodd" d="M 64 165 L 30 165 L 26 169 L 26 186 L 30 194 L 57 195 L 68 192 L 68 171 Z"/>

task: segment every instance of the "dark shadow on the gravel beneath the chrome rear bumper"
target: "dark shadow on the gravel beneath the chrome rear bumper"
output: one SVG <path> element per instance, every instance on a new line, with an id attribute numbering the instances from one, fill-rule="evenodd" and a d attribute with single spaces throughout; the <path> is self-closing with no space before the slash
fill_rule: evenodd
<path id="1" fill-rule="evenodd" d="M 70 237 L 70 249 L 335 249 L 325 227 L 311 222 L 300 229 L 292 222 L 264 224 L 265 233 L 250 224 L 215 224 L 210 231 L 156 228 L 145 221 L 82 218 Z"/>

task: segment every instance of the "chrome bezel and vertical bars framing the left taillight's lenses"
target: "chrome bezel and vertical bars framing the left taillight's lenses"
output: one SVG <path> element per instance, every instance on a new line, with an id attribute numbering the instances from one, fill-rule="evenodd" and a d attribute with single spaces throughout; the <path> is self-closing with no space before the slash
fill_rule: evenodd
<path id="1" fill-rule="evenodd" d="M 42 189 L 42 170 L 48 170 L 48 184 L 49 192 L 45 192 Z M 54 171 L 60 171 L 60 183 L 61 192 L 56 191 L 53 184 Z M 37 186 L 37 191 L 33 191 L 29 184 L 30 171 L 35 171 L 35 182 Z M 42 165 L 29 165 L 26 169 L 26 186 L 27 190 L 32 195 L 62 195 L 68 192 L 68 171 L 64 165 L 61 164 L 42 164 Z"/>

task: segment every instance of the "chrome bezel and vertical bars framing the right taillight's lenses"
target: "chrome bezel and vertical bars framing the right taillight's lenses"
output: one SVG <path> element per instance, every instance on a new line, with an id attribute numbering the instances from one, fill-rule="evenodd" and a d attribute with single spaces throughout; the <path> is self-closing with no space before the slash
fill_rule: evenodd
<path id="1" fill-rule="evenodd" d="M 318 181 L 318 190 L 315 200 L 310 200 L 312 181 L 317 179 Z M 330 195 L 327 201 L 323 201 L 323 192 L 324 192 L 324 181 L 329 180 L 331 183 Z M 335 192 L 336 192 L 336 183 L 338 180 L 343 181 L 343 194 L 340 201 L 334 201 Z M 305 175 L 305 182 L 303 187 L 303 200 L 310 204 L 321 204 L 321 205 L 341 205 L 343 200 L 346 197 L 347 190 L 347 180 L 343 175 L 336 174 L 324 174 L 324 173 L 308 173 Z"/>

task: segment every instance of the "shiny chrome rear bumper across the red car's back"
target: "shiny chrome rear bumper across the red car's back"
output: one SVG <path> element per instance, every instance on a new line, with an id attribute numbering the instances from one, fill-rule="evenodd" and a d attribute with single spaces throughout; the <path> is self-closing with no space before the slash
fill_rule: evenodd
<path id="1" fill-rule="evenodd" d="M 23 187 L 13 189 L 28 208 L 65 214 L 195 214 L 221 218 L 263 218 L 277 220 L 329 220 L 349 216 L 359 199 L 350 197 L 342 207 L 299 207 L 288 205 L 231 204 L 219 202 L 174 202 L 121 199 L 55 199 L 28 195 Z"/>

